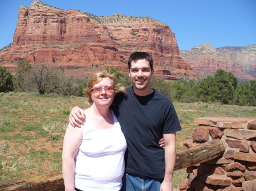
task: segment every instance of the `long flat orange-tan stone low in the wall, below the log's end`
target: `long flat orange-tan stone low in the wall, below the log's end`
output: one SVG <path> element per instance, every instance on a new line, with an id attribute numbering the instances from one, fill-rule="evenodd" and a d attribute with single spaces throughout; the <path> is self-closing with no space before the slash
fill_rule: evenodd
<path id="1" fill-rule="evenodd" d="M 210 185 L 230 186 L 231 179 L 225 175 L 203 175 L 200 180 Z"/>

